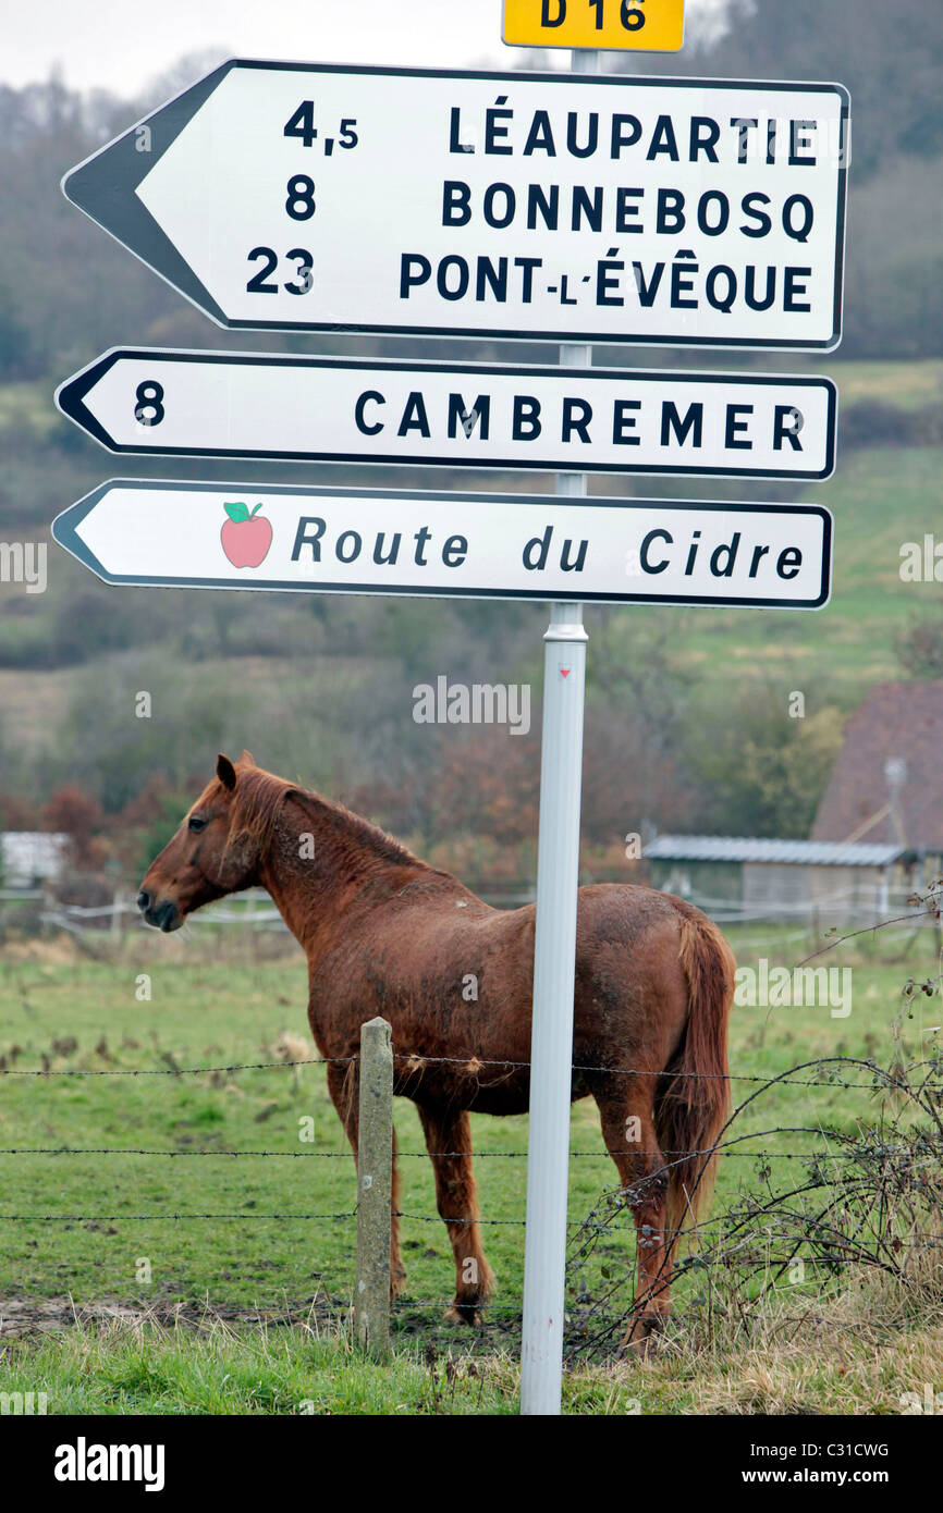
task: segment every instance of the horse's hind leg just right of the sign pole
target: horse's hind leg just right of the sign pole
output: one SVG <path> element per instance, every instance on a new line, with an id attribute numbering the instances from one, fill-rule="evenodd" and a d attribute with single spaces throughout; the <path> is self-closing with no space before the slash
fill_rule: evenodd
<path id="1" fill-rule="evenodd" d="M 621 1094 L 596 1094 L 602 1138 L 613 1157 L 625 1203 L 637 1232 L 637 1288 L 633 1322 L 624 1344 L 646 1354 L 671 1312 L 671 1239 L 666 1236 L 668 1171 L 652 1121 L 654 1079 L 613 1079 L 633 1083 Z M 674 1159 L 669 1156 L 669 1160 Z"/>

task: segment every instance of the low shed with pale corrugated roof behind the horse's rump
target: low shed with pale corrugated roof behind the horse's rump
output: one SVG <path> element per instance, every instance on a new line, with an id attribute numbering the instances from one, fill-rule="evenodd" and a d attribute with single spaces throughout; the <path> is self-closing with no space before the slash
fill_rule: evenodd
<path id="1" fill-rule="evenodd" d="M 905 849 L 887 841 L 657 835 L 643 855 L 655 888 L 690 899 L 717 920 L 867 923 L 887 912 L 892 894 L 908 881 Z"/>

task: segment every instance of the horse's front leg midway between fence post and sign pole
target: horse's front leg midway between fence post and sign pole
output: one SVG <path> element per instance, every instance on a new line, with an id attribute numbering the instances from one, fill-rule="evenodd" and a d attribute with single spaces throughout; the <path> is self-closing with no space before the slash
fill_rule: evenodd
<path id="1" fill-rule="evenodd" d="M 492 1292 L 495 1278 L 475 1223 L 478 1197 L 472 1176 L 471 1120 L 463 1109 L 416 1108 L 436 1174 L 436 1204 L 456 1257 L 456 1300 L 445 1316 L 453 1324 L 477 1324 L 478 1309 Z"/>

